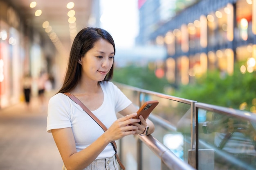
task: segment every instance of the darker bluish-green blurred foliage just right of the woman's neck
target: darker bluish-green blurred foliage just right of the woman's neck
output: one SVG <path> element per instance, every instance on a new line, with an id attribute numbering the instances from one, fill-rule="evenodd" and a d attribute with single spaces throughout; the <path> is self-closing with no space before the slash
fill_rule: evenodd
<path id="1" fill-rule="evenodd" d="M 155 76 L 154 70 L 136 65 L 115 68 L 113 81 L 159 93 L 164 93 L 164 87 L 168 85 L 165 78 Z"/>

